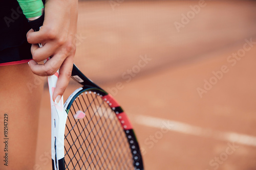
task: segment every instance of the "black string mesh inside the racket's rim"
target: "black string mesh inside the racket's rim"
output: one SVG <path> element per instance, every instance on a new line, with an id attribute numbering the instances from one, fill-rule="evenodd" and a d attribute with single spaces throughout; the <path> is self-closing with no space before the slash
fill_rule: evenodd
<path id="1" fill-rule="evenodd" d="M 76 111 L 86 113 L 75 119 Z M 134 169 L 129 143 L 115 113 L 94 93 L 73 102 L 65 135 L 66 169 Z"/>

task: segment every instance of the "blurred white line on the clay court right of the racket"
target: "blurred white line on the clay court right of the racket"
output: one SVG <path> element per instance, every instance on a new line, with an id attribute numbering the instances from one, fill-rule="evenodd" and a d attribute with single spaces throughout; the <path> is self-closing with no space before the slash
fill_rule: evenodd
<path id="1" fill-rule="evenodd" d="M 239 134 L 235 132 L 220 132 L 211 129 L 201 128 L 174 120 L 157 118 L 145 115 L 133 115 L 132 116 L 137 124 L 147 127 L 164 129 L 168 131 L 180 132 L 189 135 L 203 136 L 208 138 L 214 138 L 218 140 L 236 142 L 240 144 L 250 145 L 256 147 L 256 137 Z"/>

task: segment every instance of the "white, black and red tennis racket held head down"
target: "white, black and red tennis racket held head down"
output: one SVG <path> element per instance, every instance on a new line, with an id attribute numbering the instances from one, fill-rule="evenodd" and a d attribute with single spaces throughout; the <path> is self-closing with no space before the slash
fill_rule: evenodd
<path id="1" fill-rule="evenodd" d="M 30 25 L 38 31 L 43 21 L 44 15 Z M 63 98 L 55 104 L 52 94 L 58 76 L 57 71 L 48 77 L 52 168 L 144 169 L 133 127 L 117 101 L 73 65 L 72 78 L 81 87 L 65 104 Z"/>

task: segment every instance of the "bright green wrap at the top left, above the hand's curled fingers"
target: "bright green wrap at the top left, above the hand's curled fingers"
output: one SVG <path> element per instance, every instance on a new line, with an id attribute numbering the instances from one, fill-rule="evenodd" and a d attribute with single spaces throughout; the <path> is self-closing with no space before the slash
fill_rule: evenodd
<path id="1" fill-rule="evenodd" d="M 20 8 L 22 8 L 23 14 L 26 18 L 32 18 L 42 15 L 42 8 L 44 4 L 41 0 L 17 0 Z"/>

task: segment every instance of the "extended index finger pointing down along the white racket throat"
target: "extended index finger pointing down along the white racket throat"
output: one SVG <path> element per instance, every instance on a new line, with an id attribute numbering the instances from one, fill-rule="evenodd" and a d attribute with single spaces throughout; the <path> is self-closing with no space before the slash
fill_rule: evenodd
<path id="1" fill-rule="evenodd" d="M 59 78 L 56 84 L 56 88 L 53 92 L 52 99 L 57 104 L 65 92 L 69 80 L 72 74 L 72 68 L 73 68 L 74 58 L 68 57 L 66 60 L 62 63 L 60 69 L 59 69 Z"/>

